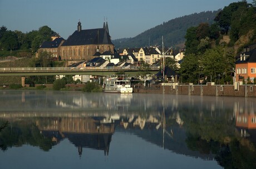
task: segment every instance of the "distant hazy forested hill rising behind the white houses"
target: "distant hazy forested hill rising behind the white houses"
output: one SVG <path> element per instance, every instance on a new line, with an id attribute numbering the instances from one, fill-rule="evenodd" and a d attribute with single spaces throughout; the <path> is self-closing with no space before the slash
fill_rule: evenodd
<path id="1" fill-rule="evenodd" d="M 122 38 L 112 40 L 115 48 L 140 48 L 149 45 L 161 45 L 162 35 L 164 36 L 164 45 L 166 47 L 181 47 L 185 43 L 186 30 L 190 27 L 197 26 L 199 23 L 213 23 L 216 14 L 219 11 L 207 11 L 194 13 L 188 16 L 172 19 L 157 25 L 155 28 L 146 30 L 134 38 Z"/>

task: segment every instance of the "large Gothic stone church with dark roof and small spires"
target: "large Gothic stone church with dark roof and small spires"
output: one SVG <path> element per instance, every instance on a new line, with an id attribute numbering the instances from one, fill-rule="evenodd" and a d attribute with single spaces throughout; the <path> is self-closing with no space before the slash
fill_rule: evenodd
<path id="1" fill-rule="evenodd" d="M 90 60 L 97 52 L 114 53 L 114 48 L 107 22 L 104 22 L 103 28 L 85 30 L 78 22 L 77 30 L 60 46 L 60 55 L 62 60 Z"/>

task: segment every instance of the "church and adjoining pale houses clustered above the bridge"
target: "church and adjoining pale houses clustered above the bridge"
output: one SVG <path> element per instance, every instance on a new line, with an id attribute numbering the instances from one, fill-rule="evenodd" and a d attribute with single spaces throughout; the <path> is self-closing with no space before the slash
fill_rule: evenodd
<path id="1" fill-rule="evenodd" d="M 40 51 L 52 53 L 56 59 L 66 60 L 68 65 L 83 63 L 79 66 L 130 66 L 145 62 L 152 65 L 164 57 L 171 57 L 177 62 L 183 59 L 184 50 L 170 48 L 141 47 L 115 49 L 111 42 L 109 25 L 104 22 L 103 28 L 82 30 L 81 22 L 77 30 L 67 40 L 55 37 L 51 42 L 43 42 Z"/>

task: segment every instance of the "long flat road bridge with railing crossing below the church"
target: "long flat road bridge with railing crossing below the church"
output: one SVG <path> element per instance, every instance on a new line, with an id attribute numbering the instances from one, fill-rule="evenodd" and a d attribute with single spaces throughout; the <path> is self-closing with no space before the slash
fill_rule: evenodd
<path id="1" fill-rule="evenodd" d="M 159 66 L 150 66 L 149 72 L 156 74 Z M 123 67 L 46 67 L 46 68 L 0 68 L 0 76 L 33 76 L 33 75 L 113 75 L 118 71 L 124 71 L 125 74 L 135 76 L 143 71 L 140 66 L 131 68 Z"/>

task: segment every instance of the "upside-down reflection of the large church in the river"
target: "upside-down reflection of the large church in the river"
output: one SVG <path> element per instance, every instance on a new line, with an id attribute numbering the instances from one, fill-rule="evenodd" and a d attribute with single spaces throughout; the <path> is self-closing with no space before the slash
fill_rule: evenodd
<path id="1" fill-rule="evenodd" d="M 70 140 L 78 148 L 80 156 L 83 147 L 104 150 L 105 155 L 108 155 L 115 131 L 114 122 L 105 117 L 42 118 L 36 124 L 41 133 L 51 137 L 52 141 Z"/>

